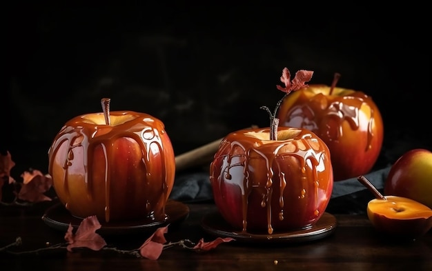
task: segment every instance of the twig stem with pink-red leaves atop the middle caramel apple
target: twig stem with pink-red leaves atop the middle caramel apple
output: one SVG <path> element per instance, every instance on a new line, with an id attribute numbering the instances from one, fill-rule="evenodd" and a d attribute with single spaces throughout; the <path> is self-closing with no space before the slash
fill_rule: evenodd
<path id="1" fill-rule="evenodd" d="M 282 101 L 291 93 L 293 90 L 300 90 L 300 88 L 306 88 L 308 85 L 305 83 L 311 80 L 313 72 L 310 70 L 299 70 L 295 73 L 293 81 L 291 81 L 291 73 L 288 68 L 282 70 L 282 76 L 280 81 L 285 84 L 285 88 L 281 86 L 276 86 L 278 90 L 285 92 L 284 97 L 280 99 L 275 106 L 273 113 L 268 109 L 267 106 L 260 107 L 268 112 L 270 115 L 270 140 L 277 140 L 277 128 L 279 127 L 279 119 L 277 119 L 276 114 Z"/>

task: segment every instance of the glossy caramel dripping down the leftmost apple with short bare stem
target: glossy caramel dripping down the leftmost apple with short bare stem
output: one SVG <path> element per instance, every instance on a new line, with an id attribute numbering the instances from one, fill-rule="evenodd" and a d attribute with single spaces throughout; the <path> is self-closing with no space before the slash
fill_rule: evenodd
<path id="1" fill-rule="evenodd" d="M 111 114 L 119 114 L 120 112 L 112 112 Z M 122 112 L 121 114 L 127 114 L 126 112 Z M 131 112 L 130 114 L 133 114 Z M 141 117 L 141 118 L 140 118 Z M 86 190 L 87 190 L 87 197 L 89 199 L 92 199 L 95 197 L 95 193 L 99 193 L 100 191 L 93 191 L 92 190 L 92 177 L 89 175 L 89 168 L 92 168 L 92 157 L 94 154 L 94 150 L 98 145 L 101 145 L 103 151 L 104 151 L 104 159 L 105 159 L 105 220 L 108 222 L 110 221 L 110 194 L 112 191 L 110 191 L 111 181 L 115 181 L 111 179 L 111 171 L 115 167 L 115 161 L 116 157 L 113 154 L 114 150 L 112 149 L 111 145 L 114 143 L 117 139 L 121 137 L 129 137 L 131 139 L 134 139 L 141 148 L 141 163 L 145 167 L 150 162 L 150 152 L 159 152 L 161 155 L 161 161 L 164 161 L 164 148 L 163 143 L 161 141 L 161 135 L 158 132 L 158 129 L 161 131 L 164 131 L 163 127 L 155 127 L 155 123 L 152 119 L 143 119 L 142 116 L 137 115 L 135 119 L 132 119 L 130 121 L 127 121 L 125 123 L 121 124 L 121 131 L 119 132 L 119 129 L 113 129 L 114 126 L 106 126 L 104 124 L 101 124 L 99 126 L 96 126 L 94 123 L 83 123 L 82 126 L 78 126 L 77 128 L 72 128 L 74 121 L 78 121 L 77 119 L 72 119 L 72 121 L 69 121 L 66 123 L 66 126 L 62 128 L 62 130 L 57 134 L 57 137 L 52 143 L 52 146 L 50 150 L 48 151 L 48 156 L 50 157 L 50 169 L 49 171 L 52 172 L 52 165 L 54 164 L 54 159 L 56 157 L 56 153 L 58 152 L 59 148 L 65 141 L 68 142 L 68 150 L 67 150 L 67 157 L 65 157 L 65 161 L 63 163 L 63 169 L 64 169 L 64 177 L 63 177 L 63 187 L 66 192 L 66 208 L 69 207 L 70 204 L 70 191 L 69 191 L 69 183 L 68 183 L 68 175 L 70 172 L 68 172 L 68 168 L 74 163 L 74 148 L 77 147 L 83 147 L 84 150 L 84 169 L 85 169 L 85 183 L 86 183 Z M 81 122 L 81 121 L 80 121 Z M 160 124 L 161 125 L 161 124 Z M 146 127 L 148 126 L 148 127 Z M 101 130 L 104 130 L 106 133 L 101 132 Z M 77 140 L 79 139 L 79 140 Z M 166 180 L 166 165 L 165 163 L 161 163 L 161 166 L 163 167 L 162 172 L 164 172 L 164 176 L 150 176 L 147 170 L 147 176 L 146 180 L 143 183 L 146 183 L 146 185 L 152 185 L 152 181 L 149 181 L 151 178 L 158 178 L 164 180 L 162 182 L 162 191 L 164 193 L 164 199 L 168 199 L 168 183 Z M 146 202 L 146 210 L 155 210 L 155 206 L 158 204 L 158 202 Z M 164 204 L 163 204 L 164 208 Z M 165 210 L 163 210 L 165 213 Z"/>

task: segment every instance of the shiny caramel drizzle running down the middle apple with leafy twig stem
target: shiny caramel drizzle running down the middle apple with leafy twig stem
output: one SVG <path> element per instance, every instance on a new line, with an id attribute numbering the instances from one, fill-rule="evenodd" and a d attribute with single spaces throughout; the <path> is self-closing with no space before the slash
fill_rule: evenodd
<path id="1" fill-rule="evenodd" d="M 256 190 L 260 190 L 262 191 L 262 201 L 261 201 L 261 207 L 262 208 L 266 208 L 266 214 L 267 214 L 267 228 L 268 228 L 268 234 L 272 234 L 273 233 L 273 225 L 272 225 L 272 206 L 271 206 L 271 197 L 273 194 L 273 163 L 275 163 L 275 165 L 279 168 L 279 182 L 277 182 L 279 184 L 280 189 L 280 194 L 279 194 L 279 208 L 280 208 L 280 212 L 279 212 L 279 220 L 283 220 L 284 219 L 284 190 L 286 189 L 286 184 L 287 181 L 285 179 L 285 174 L 284 172 L 282 172 L 280 170 L 280 164 L 279 161 L 277 159 L 277 157 L 282 157 L 282 156 L 292 156 L 297 158 L 298 161 L 300 161 L 301 164 L 301 170 L 303 174 L 306 174 L 306 161 L 311 161 L 311 165 L 312 165 L 312 170 L 313 170 L 313 182 L 314 182 L 314 187 L 315 187 L 315 205 L 317 205 L 317 201 L 318 201 L 318 195 L 319 195 L 319 181 L 318 181 L 318 174 L 317 174 L 317 165 L 319 165 L 319 161 L 322 158 L 323 152 L 314 152 L 313 148 L 311 147 L 309 141 L 313 140 L 311 137 L 311 134 L 304 134 L 301 141 L 302 144 L 306 146 L 306 150 L 302 150 L 299 147 L 299 143 L 297 141 L 286 141 L 284 143 L 279 144 L 279 147 L 276 148 L 273 153 L 266 155 L 266 153 L 259 151 L 259 148 L 246 148 L 245 145 L 243 145 L 242 143 L 240 143 L 239 141 L 233 141 L 231 142 L 229 145 L 226 144 L 225 148 L 230 148 L 230 153 L 228 155 L 226 155 L 226 163 L 224 161 L 224 170 L 222 170 L 222 173 L 219 175 L 218 177 L 218 181 L 219 181 L 219 185 L 222 182 L 222 174 L 225 174 L 225 178 L 226 179 L 231 179 L 232 176 L 230 174 L 230 170 L 236 166 L 242 166 L 243 168 L 243 174 L 244 174 L 244 179 L 243 179 L 243 187 L 241 187 L 242 189 L 242 223 L 243 223 L 243 228 L 242 228 L 242 232 L 247 232 L 247 213 L 248 213 L 248 195 L 251 194 L 251 191 L 253 189 Z M 281 148 L 283 148 L 285 145 L 288 144 L 293 144 L 295 145 L 295 151 L 292 153 L 283 153 L 283 154 L 279 154 L 279 150 Z M 321 143 L 320 143 L 321 144 Z M 239 147 L 242 148 L 242 150 L 244 150 L 244 154 L 241 155 L 233 155 L 233 152 L 235 150 L 235 147 Z M 259 154 L 259 157 L 262 157 L 264 159 L 264 161 L 266 162 L 266 184 L 264 185 L 264 187 L 259 187 L 257 185 L 251 185 L 251 180 L 250 180 L 250 176 L 251 176 L 251 172 L 249 172 L 248 168 L 248 161 L 251 161 L 250 157 L 251 157 L 251 153 L 255 152 L 257 154 Z M 233 163 L 232 160 L 238 159 L 239 162 L 235 162 Z M 309 181 L 306 178 L 302 178 L 302 180 L 305 181 Z M 306 189 L 302 189 L 301 191 L 301 195 L 299 196 L 300 198 L 304 198 L 306 194 Z M 315 210 L 315 215 L 317 216 L 319 214 L 318 210 Z"/>

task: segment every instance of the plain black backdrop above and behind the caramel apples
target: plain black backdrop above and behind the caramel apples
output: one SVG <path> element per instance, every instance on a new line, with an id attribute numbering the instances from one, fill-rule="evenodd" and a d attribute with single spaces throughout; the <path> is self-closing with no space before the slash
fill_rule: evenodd
<path id="1" fill-rule="evenodd" d="M 246 2 L 245 2 L 246 3 Z M 164 121 L 177 154 L 251 126 L 268 126 L 282 69 L 310 83 L 362 90 L 384 119 L 375 168 L 432 149 L 426 6 L 335 3 L 52 6 L 15 1 L 6 18 L 0 150 L 15 170 L 48 170 L 48 148 L 79 114 L 146 112 Z"/>

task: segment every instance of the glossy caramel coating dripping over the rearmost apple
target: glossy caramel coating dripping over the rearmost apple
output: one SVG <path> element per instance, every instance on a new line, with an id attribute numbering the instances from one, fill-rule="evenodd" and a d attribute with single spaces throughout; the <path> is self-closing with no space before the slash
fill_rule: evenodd
<path id="1" fill-rule="evenodd" d="M 365 99 L 368 99 L 367 96 L 364 97 L 342 97 L 342 99 L 337 99 L 331 103 L 329 103 L 328 98 L 324 95 L 318 94 L 311 101 L 307 101 L 306 103 L 300 106 L 293 106 L 291 110 L 287 113 L 288 119 L 285 126 L 293 126 L 293 127 L 302 127 L 308 128 L 313 132 L 319 132 L 319 127 L 326 124 L 326 120 L 328 118 L 333 118 L 337 120 L 338 130 L 335 133 L 331 133 L 333 131 L 326 130 L 326 137 L 331 141 L 337 141 L 340 137 L 343 136 L 342 132 L 342 123 L 344 121 L 348 121 L 352 130 L 358 130 L 360 127 L 360 114 L 359 108 L 361 108 L 362 104 L 366 104 L 369 106 Z M 325 99 L 325 101 L 322 101 Z M 325 113 L 322 114 L 324 117 L 317 116 L 313 114 L 314 111 L 320 111 L 318 107 L 322 105 L 328 105 L 325 109 Z M 370 108 L 370 107 L 369 107 Z M 371 118 L 369 119 L 368 128 L 367 128 L 367 143 L 365 150 L 369 150 L 372 148 L 371 142 L 373 139 L 373 121 L 374 121 L 374 111 L 373 108 L 371 110 Z M 306 117 L 304 117 L 306 116 Z M 302 119 L 301 123 L 294 124 L 292 121 L 294 119 Z M 298 125 L 297 125 L 298 124 Z"/>

